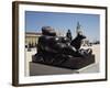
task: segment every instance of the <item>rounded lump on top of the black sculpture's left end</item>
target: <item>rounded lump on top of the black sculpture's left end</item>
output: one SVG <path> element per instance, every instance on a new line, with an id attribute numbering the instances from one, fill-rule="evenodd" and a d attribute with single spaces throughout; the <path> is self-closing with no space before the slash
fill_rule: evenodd
<path id="1" fill-rule="evenodd" d="M 43 26 L 42 28 L 42 34 L 43 35 L 48 35 L 48 36 L 56 36 L 56 32 L 51 26 Z"/>

